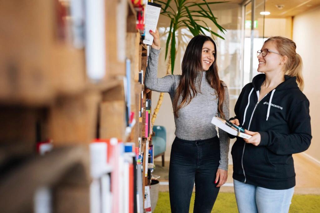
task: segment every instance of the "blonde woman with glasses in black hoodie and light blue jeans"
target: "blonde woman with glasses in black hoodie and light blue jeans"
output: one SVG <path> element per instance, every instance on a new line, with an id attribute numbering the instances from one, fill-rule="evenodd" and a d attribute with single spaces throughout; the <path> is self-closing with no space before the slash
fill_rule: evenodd
<path id="1" fill-rule="evenodd" d="M 309 101 L 302 93 L 302 60 L 287 38 L 269 38 L 258 51 L 258 72 L 236 102 L 236 125 L 250 139 L 232 147 L 240 213 L 288 212 L 295 186 L 292 154 L 311 142 Z"/>

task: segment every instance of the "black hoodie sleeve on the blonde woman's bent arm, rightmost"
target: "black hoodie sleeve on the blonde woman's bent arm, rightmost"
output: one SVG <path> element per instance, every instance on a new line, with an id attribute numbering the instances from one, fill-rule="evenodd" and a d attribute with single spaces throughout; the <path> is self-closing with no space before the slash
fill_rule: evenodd
<path id="1" fill-rule="evenodd" d="M 312 138 L 308 100 L 292 108 L 288 116 L 288 125 L 290 134 L 281 134 L 273 130 L 259 132 L 259 146 L 266 146 L 278 155 L 290 155 L 307 150 Z"/>

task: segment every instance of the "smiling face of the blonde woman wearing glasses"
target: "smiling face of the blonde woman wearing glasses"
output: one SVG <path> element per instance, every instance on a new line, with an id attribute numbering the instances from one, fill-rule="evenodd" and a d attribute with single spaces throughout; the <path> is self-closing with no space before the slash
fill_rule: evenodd
<path id="1" fill-rule="evenodd" d="M 262 53 L 258 55 L 259 60 L 259 66 L 258 66 L 258 72 L 270 72 L 275 70 L 281 70 L 282 65 L 282 56 L 276 53 L 279 53 L 279 51 L 276 48 L 276 43 L 273 41 L 266 42 L 262 46 L 261 50 L 268 49 L 272 52 L 268 52 L 265 57 L 262 57 Z M 276 53 L 273 53 L 276 52 Z"/>

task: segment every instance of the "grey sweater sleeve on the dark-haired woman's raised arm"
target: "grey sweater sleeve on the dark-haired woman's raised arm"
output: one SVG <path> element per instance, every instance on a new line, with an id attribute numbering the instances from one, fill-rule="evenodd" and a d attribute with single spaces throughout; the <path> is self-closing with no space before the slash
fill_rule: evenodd
<path id="1" fill-rule="evenodd" d="M 174 75 L 157 78 L 160 49 L 151 48 L 145 76 L 145 85 L 156 92 L 172 92 L 175 84 Z"/>

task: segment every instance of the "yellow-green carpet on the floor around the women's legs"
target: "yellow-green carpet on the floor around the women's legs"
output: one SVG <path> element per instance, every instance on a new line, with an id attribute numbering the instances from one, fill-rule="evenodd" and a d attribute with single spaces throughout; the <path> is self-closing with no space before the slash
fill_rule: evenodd
<path id="1" fill-rule="evenodd" d="M 193 211 L 193 205 L 195 200 L 195 193 L 192 193 L 190 210 Z M 213 207 L 212 212 L 238 212 L 236 206 L 236 198 L 234 193 L 222 193 L 220 192 L 217 201 Z M 170 200 L 169 192 L 159 192 L 158 203 L 153 213 L 168 213 L 170 212 Z M 296 212 L 308 212 L 318 213 L 320 212 L 320 195 L 293 195 L 292 204 L 290 206 L 290 213 Z"/>

